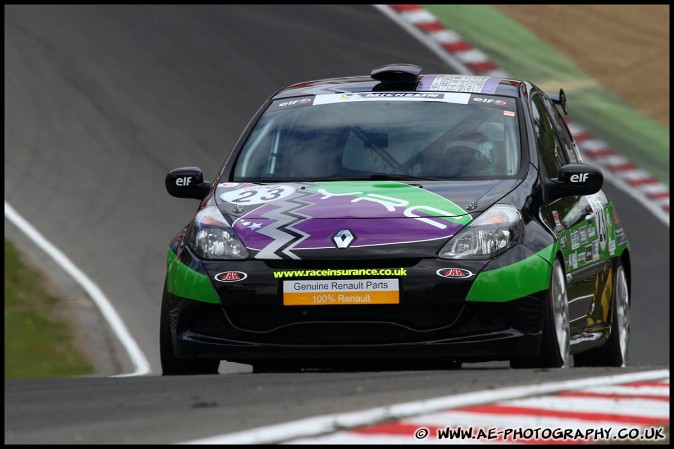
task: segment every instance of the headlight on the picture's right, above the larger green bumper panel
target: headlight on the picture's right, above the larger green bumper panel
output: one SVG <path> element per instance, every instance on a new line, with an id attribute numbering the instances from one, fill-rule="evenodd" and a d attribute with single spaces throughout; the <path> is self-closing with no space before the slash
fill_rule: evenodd
<path id="1" fill-rule="evenodd" d="M 497 204 L 457 232 L 440 250 L 442 259 L 486 259 L 520 241 L 524 225 L 517 209 Z"/>

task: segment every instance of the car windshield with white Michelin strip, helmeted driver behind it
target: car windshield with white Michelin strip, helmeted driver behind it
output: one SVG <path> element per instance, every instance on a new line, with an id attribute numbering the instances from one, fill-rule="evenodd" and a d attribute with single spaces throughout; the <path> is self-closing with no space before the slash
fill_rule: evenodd
<path id="1" fill-rule="evenodd" d="M 233 181 L 514 177 L 515 99 L 460 93 L 328 94 L 275 100 Z"/>

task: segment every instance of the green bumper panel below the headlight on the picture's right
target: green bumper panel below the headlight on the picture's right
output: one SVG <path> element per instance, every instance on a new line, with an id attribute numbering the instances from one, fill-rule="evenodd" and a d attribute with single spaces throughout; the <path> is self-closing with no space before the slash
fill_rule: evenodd
<path id="1" fill-rule="evenodd" d="M 547 290 L 556 246 L 550 245 L 512 265 L 483 271 L 475 279 L 466 301 L 506 302 Z"/>

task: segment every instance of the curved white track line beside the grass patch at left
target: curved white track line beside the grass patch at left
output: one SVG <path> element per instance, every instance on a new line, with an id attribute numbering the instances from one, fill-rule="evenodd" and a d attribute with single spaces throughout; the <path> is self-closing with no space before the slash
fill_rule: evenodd
<path id="1" fill-rule="evenodd" d="M 68 257 L 47 240 L 33 225 L 25 218 L 19 215 L 16 210 L 5 200 L 5 217 L 14 223 L 14 225 L 30 238 L 37 246 L 56 261 L 82 288 L 89 294 L 94 303 L 98 306 L 103 318 L 110 324 L 112 331 L 124 346 L 135 369 L 132 373 L 121 374 L 113 377 L 140 376 L 150 373 L 150 362 L 145 354 L 133 339 L 124 322 L 112 307 L 108 298 L 103 294 L 100 288 L 89 277 L 75 266 Z"/>

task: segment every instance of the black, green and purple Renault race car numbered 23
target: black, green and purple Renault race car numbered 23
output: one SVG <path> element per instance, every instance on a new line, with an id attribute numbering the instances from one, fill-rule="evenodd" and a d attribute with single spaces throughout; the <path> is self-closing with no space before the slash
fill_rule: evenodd
<path id="1" fill-rule="evenodd" d="M 495 76 L 300 82 L 258 110 L 170 241 L 163 375 L 626 366 L 630 246 L 566 96 Z"/>

